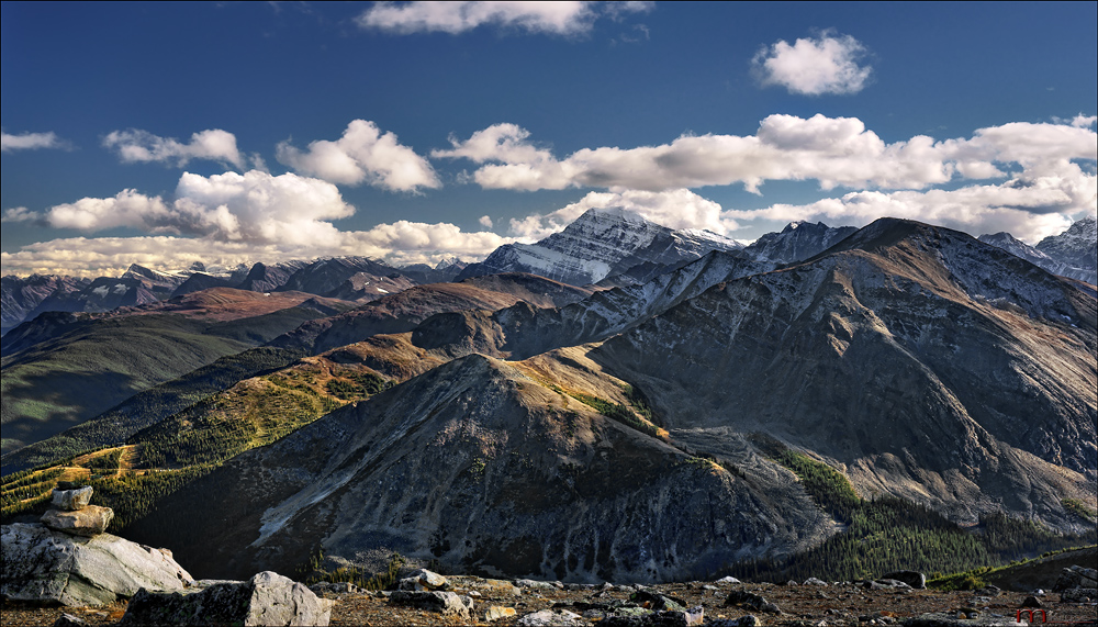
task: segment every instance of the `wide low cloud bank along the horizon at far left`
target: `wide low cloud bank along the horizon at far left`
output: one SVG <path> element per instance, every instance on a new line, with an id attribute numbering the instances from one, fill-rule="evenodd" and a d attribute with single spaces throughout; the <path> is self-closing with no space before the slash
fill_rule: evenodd
<path id="1" fill-rule="evenodd" d="M 123 190 L 111 198 L 86 198 L 41 214 L 25 208 L 8 210 L 4 222 L 34 221 L 86 232 L 131 227 L 150 235 L 32 244 L 3 253 L 3 267 L 5 272 L 18 275 L 110 276 L 134 262 L 178 269 L 194 261 L 234 267 L 349 255 L 392 264 L 434 265 L 453 256 L 480 259 L 515 240 L 490 232 L 466 233 L 448 223 L 399 221 L 346 232 L 330 222 L 352 213 L 339 190 L 318 179 L 294 173 L 276 177 L 258 170 L 211 177 L 186 172 L 170 200 Z"/>

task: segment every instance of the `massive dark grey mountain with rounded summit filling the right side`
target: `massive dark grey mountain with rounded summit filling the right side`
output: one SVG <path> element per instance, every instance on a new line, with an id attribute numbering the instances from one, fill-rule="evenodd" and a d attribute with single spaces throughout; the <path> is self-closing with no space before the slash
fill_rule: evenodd
<path id="1" fill-rule="evenodd" d="M 1061 502 L 1095 499 L 1094 293 L 917 223 L 837 248 L 715 285 L 592 356 L 672 437 L 763 430 L 954 519 L 1077 525 Z"/>

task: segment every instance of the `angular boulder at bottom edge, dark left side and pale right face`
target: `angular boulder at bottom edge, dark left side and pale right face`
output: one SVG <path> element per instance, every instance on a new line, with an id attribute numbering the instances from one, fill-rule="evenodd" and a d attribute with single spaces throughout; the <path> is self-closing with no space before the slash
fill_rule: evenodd
<path id="1" fill-rule="evenodd" d="M 326 626 L 334 601 L 289 578 L 266 571 L 246 582 L 197 585 L 194 592 L 138 592 L 120 625 Z"/>

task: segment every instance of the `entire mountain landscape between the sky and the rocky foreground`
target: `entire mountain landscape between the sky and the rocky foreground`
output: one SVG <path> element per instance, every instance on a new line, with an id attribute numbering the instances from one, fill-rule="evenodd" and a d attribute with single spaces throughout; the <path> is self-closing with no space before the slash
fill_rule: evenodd
<path id="1" fill-rule="evenodd" d="M 3 519 L 82 482 L 217 579 L 841 579 L 1095 544 L 1096 239 L 742 245 L 610 209 L 475 264 L 4 277 Z"/>

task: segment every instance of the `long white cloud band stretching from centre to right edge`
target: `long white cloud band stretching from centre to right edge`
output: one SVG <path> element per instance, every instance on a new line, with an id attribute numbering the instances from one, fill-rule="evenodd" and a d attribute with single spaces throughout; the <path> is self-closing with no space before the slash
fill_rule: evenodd
<path id="1" fill-rule="evenodd" d="M 1095 159 L 1094 131 L 1068 124 L 1010 123 L 973 137 L 935 141 L 926 135 L 885 143 L 856 117 L 775 114 L 754 135 L 684 135 L 637 148 L 583 148 L 558 159 L 516 124 L 494 124 L 435 158 L 479 164 L 471 180 L 483 188 L 534 191 L 574 187 L 610 191 L 666 191 L 742 183 L 758 192 L 766 180 L 816 180 L 834 187 L 921 189 L 955 176 L 1005 177 L 996 164 L 1037 172 L 1073 159 Z"/>

